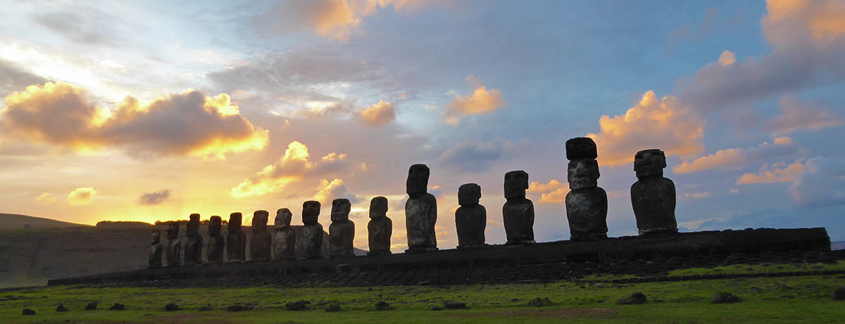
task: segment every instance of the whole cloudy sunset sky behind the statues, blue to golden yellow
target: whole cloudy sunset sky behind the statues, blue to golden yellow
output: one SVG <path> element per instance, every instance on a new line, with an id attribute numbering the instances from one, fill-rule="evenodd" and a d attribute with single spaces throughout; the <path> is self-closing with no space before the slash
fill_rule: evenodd
<path id="1" fill-rule="evenodd" d="M 608 235 L 635 235 L 636 151 L 666 152 L 684 232 L 845 240 L 845 3 L 2 1 L 0 212 L 93 224 L 384 195 L 408 167 L 441 248 L 461 184 L 504 243 L 504 173 L 569 239 L 564 142 L 597 143 Z"/>

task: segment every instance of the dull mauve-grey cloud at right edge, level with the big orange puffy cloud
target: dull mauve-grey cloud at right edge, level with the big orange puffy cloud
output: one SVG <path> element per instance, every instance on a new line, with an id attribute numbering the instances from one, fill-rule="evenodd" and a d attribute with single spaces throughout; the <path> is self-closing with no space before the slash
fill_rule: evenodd
<path id="1" fill-rule="evenodd" d="M 772 135 L 786 135 L 801 129 L 818 130 L 845 124 L 822 103 L 800 102 L 798 96 L 781 98 L 781 114 L 771 118 L 762 129 Z"/>

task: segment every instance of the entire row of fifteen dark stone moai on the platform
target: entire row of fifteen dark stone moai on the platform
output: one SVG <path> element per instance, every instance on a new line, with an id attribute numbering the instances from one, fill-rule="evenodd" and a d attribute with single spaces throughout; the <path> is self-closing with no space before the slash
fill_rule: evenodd
<path id="1" fill-rule="evenodd" d="M 598 186 L 596 143 L 590 138 L 578 137 L 566 141 L 567 181 L 570 192 L 566 195 L 566 217 L 570 225 L 571 240 L 593 240 L 608 238 L 608 194 Z M 675 189 L 672 180 L 663 178 L 666 157 L 657 149 L 636 153 L 634 170 L 637 181 L 631 186 L 631 205 L 634 208 L 640 235 L 677 233 L 675 221 Z M 408 253 L 428 252 L 437 249 L 434 231 L 437 222 L 437 200 L 428 193 L 430 171 L 424 164 L 414 164 L 408 170 L 405 204 Z M 504 174 L 504 197 L 502 206 L 506 244 L 534 243 L 534 205 L 526 198 L 528 173 L 522 170 Z M 455 211 L 455 228 L 458 234 L 458 248 L 485 246 L 484 232 L 487 227 L 487 210 L 479 204 L 481 186 L 462 184 L 458 189 L 458 204 Z M 390 236 L 393 222 L 387 217 L 387 198 L 375 197 L 370 201 L 368 223 L 368 255 L 390 254 Z M 329 250 L 331 257 L 354 255 L 352 240 L 355 237 L 355 223 L 349 219 L 352 204 L 340 198 L 332 201 L 331 225 L 329 227 Z M 297 238 L 291 228 L 292 213 L 281 208 L 275 215 L 275 234 L 267 229 L 268 211 L 255 211 L 253 235 L 249 241 L 252 260 L 292 260 L 297 246 L 304 258 L 323 257 L 323 226 L 319 223 L 320 203 L 309 200 L 303 203 L 303 230 Z M 242 215 L 232 213 L 228 222 L 226 239 L 221 234 L 221 217 L 213 216 L 209 223 L 209 244 L 206 258 L 210 263 L 222 263 L 224 247 L 228 261 L 246 261 L 246 234 L 241 229 Z M 168 266 L 181 265 L 181 241 L 178 239 L 177 223 L 167 229 L 169 242 L 166 249 Z M 203 239 L 199 235 L 199 214 L 192 214 L 187 226 L 188 242 L 185 244 L 185 263 L 201 264 Z M 161 266 L 161 233 L 154 231 L 150 267 Z M 272 251 L 272 255 L 271 255 Z"/>

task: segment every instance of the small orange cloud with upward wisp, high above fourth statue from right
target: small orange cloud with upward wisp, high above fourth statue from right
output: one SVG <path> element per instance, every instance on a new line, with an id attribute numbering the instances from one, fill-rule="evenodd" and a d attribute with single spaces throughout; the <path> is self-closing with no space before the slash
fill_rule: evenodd
<path id="1" fill-rule="evenodd" d="M 498 89 L 488 91 L 487 87 L 481 85 L 481 81 L 473 75 L 467 75 L 466 81 L 472 85 L 475 91 L 466 97 L 455 95 L 455 100 L 446 107 L 446 124 L 461 124 L 462 117 L 493 113 L 499 108 L 507 106 L 507 102 L 504 102 Z"/>

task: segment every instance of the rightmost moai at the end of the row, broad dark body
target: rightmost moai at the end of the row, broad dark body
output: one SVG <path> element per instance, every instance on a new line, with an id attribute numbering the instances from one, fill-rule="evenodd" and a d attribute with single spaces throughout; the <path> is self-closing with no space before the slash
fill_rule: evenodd
<path id="1" fill-rule="evenodd" d="M 631 185 L 636 227 L 640 235 L 678 233 L 675 221 L 675 184 L 663 178 L 666 155 L 658 149 L 636 152 L 634 171 L 637 182 Z"/>

